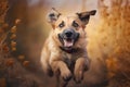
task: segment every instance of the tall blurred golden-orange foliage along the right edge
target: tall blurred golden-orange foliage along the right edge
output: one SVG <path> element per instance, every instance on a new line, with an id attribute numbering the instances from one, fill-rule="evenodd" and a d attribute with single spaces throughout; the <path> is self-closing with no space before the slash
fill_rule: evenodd
<path id="1" fill-rule="evenodd" d="M 108 76 L 110 74 L 110 82 L 115 80 L 118 83 L 119 80 L 129 82 L 130 71 L 128 71 L 128 65 L 130 65 L 130 2 L 129 0 L 110 0 L 112 5 L 105 5 L 104 0 L 99 0 L 99 10 L 102 17 L 102 23 L 99 26 L 99 39 L 101 44 L 101 49 L 107 55 L 106 66 L 108 71 Z M 100 33 L 100 29 L 104 29 L 103 33 Z M 102 39 L 102 37 L 106 36 L 107 38 Z M 127 70 L 127 71 L 126 71 Z M 125 76 L 120 78 L 120 76 Z M 125 83 L 118 83 L 121 86 L 117 87 L 126 87 Z M 129 85 L 130 86 L 130 85 Z M 110 85 L 109 87 L 115 87 L 115 85 Z"/>

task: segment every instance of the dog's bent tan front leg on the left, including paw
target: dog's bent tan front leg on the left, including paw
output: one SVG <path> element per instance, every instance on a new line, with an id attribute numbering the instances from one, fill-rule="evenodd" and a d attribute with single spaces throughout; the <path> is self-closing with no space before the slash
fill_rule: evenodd
<path id="1" fill-rule="evenodd" d="M 72 72 L 62 60 L 51 60 L 50 65 L 54 73 L 60 72 L 65 82 L 68 82 L 72 78 Z"/>

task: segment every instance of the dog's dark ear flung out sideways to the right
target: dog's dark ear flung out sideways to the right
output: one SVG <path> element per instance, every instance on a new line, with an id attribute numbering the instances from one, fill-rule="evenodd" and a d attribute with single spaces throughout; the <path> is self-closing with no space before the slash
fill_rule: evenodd
<path id="1" fill-rule="evenodd" d="M 92 11 L 87 11 L 87 12 L 81 12 L 81 13 L 76 13 L 80 21 L 83 23 L 83 25 L 88 24 L 90 15 L 95 15 L 96 10 Z"/>

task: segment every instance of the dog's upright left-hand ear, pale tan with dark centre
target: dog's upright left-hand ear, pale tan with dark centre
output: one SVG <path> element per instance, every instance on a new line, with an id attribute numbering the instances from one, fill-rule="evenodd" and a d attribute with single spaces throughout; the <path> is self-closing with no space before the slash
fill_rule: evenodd
<path id="1" fill-rule="evenodd" d="M 52 26 L 54 26 L 54 23 L 60 17 L 61 13 L 52 8 L 52 11 L 48 14 L 48 22 L 51 23 Z"/>

